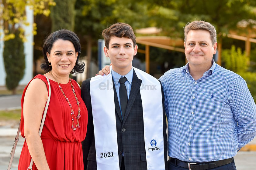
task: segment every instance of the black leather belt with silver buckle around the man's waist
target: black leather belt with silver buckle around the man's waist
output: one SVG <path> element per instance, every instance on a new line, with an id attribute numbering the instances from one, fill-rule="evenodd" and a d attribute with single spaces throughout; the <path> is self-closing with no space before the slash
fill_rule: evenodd
<path id="1" fill-rule="evenodd" d="M 234 162 L 234 158 L 223 159 L 220 161 L 213 161 L 213 162 L 205 162 L 205 163 L 192 163 L 192 162 L 183 162 L 176 158 L 169 158 L 169 160 L 174 163 L 175 165 L 181 166 L 183 168 L 187 168 L 189 170 L 206 170 L 212 169 L 218 166 L 227 165 L 231 162 Z"/>

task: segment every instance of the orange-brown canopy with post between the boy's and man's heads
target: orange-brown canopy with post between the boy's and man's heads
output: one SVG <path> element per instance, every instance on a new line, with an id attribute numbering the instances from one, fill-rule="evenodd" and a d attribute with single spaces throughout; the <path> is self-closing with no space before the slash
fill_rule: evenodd
<path id="1" fill-rule="evenodd" d="M 149 73 L 150 56 L 149 47 L 164 48 L 172 51 L 184 52 L 184 40 L 182 38 L 172 39 L 166 36 L 141 36 L 136 38 L 137 44 L 144 44 L 145 50 L 138 49 L 138 52 L 145 54 L 146 72 Z"/>

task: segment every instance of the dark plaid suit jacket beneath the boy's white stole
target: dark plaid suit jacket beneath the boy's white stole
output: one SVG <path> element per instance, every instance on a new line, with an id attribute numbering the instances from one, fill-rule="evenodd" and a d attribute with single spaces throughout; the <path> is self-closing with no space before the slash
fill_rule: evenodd
<path id="1" fill-rule="evenodd" d="M 83 81 L 81 87 L 81 96 L 88 109 L 88 127 L 85 140 L 82 142 L 84 167 L 87 170 L 96 170 L 96 152 L 94 141 L 94 128 L 92 118 L 92 104 L 90 97 L 90 81 L 87 79 Z M 144 142 L 144 123 L 142 102 L 140 96 L 140 85 L 142 80 L 137 78 L 135 71 L 133 71 L 133 80 L 129 100 L 126 107 L 124 119 L 122 119 L 119 102 L 117 99 L 116 88 L 113 82 L 115 110 L 116 110 L 116 131 L 119 154 L 119 166 L 122 161 L 122 154 L 124 154 L 124 162 L 126 170 L 147 170 L 145 142 Z M 105 96 L 102 96 L 105 97 Z M 107 96 L 106 96 L 107 100 Z M 154 102 L 154 96 L 152 96 Z M 165 167 L 167 160 L 167 136 L 166 136 L 166 118 L 164 112 L 164 94 L 162 89 L 162 103 L 163 103 L 163 135 L 164 136 L 164 159 Z M 99 103 L 100 105 L 100 103 Z M 102 127 L 105 128 L 105 127 Z M 166 168 L 167 169 L 167 168 Z"/>

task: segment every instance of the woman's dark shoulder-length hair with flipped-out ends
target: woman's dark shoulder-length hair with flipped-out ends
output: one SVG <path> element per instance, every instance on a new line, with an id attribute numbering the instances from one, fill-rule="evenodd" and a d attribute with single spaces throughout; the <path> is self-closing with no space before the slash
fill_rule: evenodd
<path id="1" fill-rule="evenodd" d="M 78 36 L 67 29 L 61 29 L 58 31 L 55 31 L 53 33 L 51 33 L 44 41 L 43 44 L 43 57 L 44 57 L 44 62 L 43 64 L 41 64 L 41 68 L 46 71 L 49 72 L 52 70 L 52 67 L 49 66 L 49 62 L 48 62 L 48 58 L 46 53 L 48 52 L 50 54 L 50 51 L 52 49 L 52 46 L 54 44 L 55 41 L 62 39 L 62 40 L 67 40 L 73 43 L 74 48 L 75 48 L 75 52 L 78 52 L 78 56 L 76 59 L 76 65 L 74 66 L 73 70 L 70 73 L 82 73 L 84 72 L 85 69 L 85 63 L 84 62 L 78 62 L 80 53 L 81 53 L 81 44 L 80 44 L 80 40 L 78 38 Z"/>

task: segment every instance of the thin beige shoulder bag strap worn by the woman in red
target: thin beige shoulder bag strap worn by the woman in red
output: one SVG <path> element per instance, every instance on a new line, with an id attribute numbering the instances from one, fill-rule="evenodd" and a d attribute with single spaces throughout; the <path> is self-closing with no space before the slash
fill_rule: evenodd
<path id="1" fill-rule="evenodd" d="M 45 76 L 45 75 L 44 75 Z M 46 76 L 45 76 L 46 77 Z M 47 98 L 47 103 L 45 105 L 45 109 L 44 109 L 44 112 L 43 112 L 43 118 L 42 118 L 42 122 L 41 122 L 41 125 L 40 125 L 40 129 L 39 129 L 39 135 L 41 136 L 42 134 L 42 130 L 43 130 L 43 124 L 44 124 L 44 121 L 45 121 L 45 118 L 46 118 L 46 113 L 47 113 L 47 110 L 48 110 L 48 106 L 49 106 L 49 103 L 50 103 L 50 98 L 51 98 L 51 86 L 50 86 L 50 81 L 49 79 L 46 77 L 47 79 L 47 82 L 48 82 L 48 86 L 49 86 L 49 95 L 48 95 L 48 98 Z M 13 146 L 12 146 L 12 151 L 11 151 L 11 158 L 10 158 L 10 162 L 9 162 L 9 165 L 8 165 L 8 168 L 7 170 L 10 170 L 11 169 L 11 166 L 12 166 L 12 161 L 13 161 L 13 158 L 14 158 L 14 153 L 15 153 L 15 149 L 16 149 L 16 146 L 17 146 L 17 143 L 19 141 L 19 132 L 20 132 L 20 121 L 19 121 L 19 128 L 18 128 L 18 131 L 17 131 L 17 135 L 16 137 L 14 138 L 14 142 L 13 142 Z M 32 165 L 33 165 L 33 159 L 31 158 L 31 161 L 30 161 L 30 164 L 29 164 L 29 167 L 27 170 L 32 170 Z"/>

